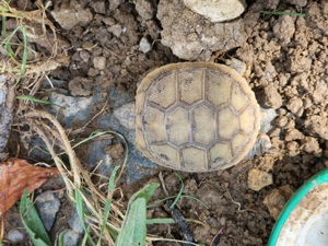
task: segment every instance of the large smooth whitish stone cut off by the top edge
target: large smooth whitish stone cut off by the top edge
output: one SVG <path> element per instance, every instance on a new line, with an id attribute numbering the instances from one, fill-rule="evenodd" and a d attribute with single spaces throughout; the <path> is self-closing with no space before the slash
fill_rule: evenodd
<path id="1" fill-rule="evenodd" d="M 185 5 L 211 22 L 238 17 L 246 8 L 244 0 L 184 0 Z"/>

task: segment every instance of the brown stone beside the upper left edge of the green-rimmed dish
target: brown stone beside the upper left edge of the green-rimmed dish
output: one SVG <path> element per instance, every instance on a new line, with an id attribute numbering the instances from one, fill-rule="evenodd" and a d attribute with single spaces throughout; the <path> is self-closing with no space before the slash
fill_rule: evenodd
<path id="1" fill-rule="evenodd" d="M 268 208 L 270 215 L 277 220 L 288 199 L 293 194 L 293 189 L 289 186 L 282 186 L 272 189 L 263 199 L 263 204 Z"/>

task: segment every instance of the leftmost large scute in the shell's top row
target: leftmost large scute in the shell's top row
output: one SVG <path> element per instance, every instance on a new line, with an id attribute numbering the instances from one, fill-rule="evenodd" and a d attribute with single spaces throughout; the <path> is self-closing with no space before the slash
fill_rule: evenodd
<path id="1" fill-rule="evenodd" d="M 168 108 L 177 99 L 177 84 L 175 75 L 164 73 L 153 82 L 148 91 L 149 101 L 157 104 L 162 108 Z"/>

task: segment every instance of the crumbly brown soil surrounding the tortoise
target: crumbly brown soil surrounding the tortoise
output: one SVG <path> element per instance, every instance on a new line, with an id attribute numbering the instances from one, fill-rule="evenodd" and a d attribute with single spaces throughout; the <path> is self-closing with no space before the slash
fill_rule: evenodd
<path id="1" fill-rule="evenodd" d="M 60 86 L 72 96 L 95 95 L 112 87 L 134 95 L 142 74 L 162 65 L 210 59 L 223 62 L 227 58 L 246 62 L 251 69 L 247 81 L 260 106 L 277 110 L 277 118 L 268 132 L 274 152 L 225 171 L 180 173 L 185 183 L 184 194 L 195 196 L 208 208 L 188 198 L 183 198 L 178 206 L 185 218 L 202 222 L 189 224 L 197 243 L 211 245 L 215 234 L 224 227 L 216 245 L 266 245 L 279 211 L 289 197 L 305 180 L 328 166 L 328 2 L 247 1 L 245 13 L 235 21 L 241 28 L 236 40 L 225 40 L 224 34 L 213 33 L 219 35 L 218 42 L 226 43 L 224 47 L 204 47 L 200 43 L 200 52 L 183 54 L 180 59 L 172 51 L 175 47 L 167 47 L 174 46 L 177 39 L 181 40 L 175 36 L 180 35 L 179 27 L 175 25 L 172 30 L 176 33 L 171 33 L 167 26 L 177 19 L 174 14 L 183 1 L 56 1 L 49 8 L 49 17 L 56 23 L 60 38 L 68 44 L 71 60 L 69 66 L 52 71 L 49 78 L 67 81 Z M 35 5 L 32 2 L 20 0 L 16 4 L 21 9 L 33 10 Z M 83 19 L 73 26 L 66 23 L 63 28 L 65 23 L 58 24 L 50 12 L 60 12 L 72 5 L 77 12 L 85 11 Z M 262 10 L 302 12 L 305 15 L 262 14 Z M 185 27 L 195 24 L 192 17 L 184 21 Z M 179 20 L 176 23 L 180 23 Z M 147 52 L 139 50 L 142 38 L 150 49 Z M 161 42 L 162 38 L 164 42 Z M 184 42 L 190 43 L 188 38 Z M 74 82 L 74 78 L 83 80 Z M 108 101 L 107 112 L 113 110 L 114 103 Z M 101 103 L 95 105 L 93 112 L 103 106 Z M 96 124 L 89 125 L 81 137 L 98 127 Z M 20 136 L 16 133 L 13 138 L 15 141 L 12 140 L 8 149 L 15 155 Z M 117 155 L 115 148 L 110 150 Z M 78 150 L 78 156 L 85 157 L 83 150 Z M 20 157 L 30 159 L 28 150 L 23 145 Z M 144 179 L 131 185 L 122 184 L 125 199 L 128 200 L 144 184 L 159 181 L 160 171 L 168 194 L 176 195 L 180 187 L 178 178 L 173 171 L 159 168 Z M 254 172 L 257 175 L 253 175 Z M 55 179 L 43 190 L 57 188 L 60 188 L 60 181 Z M 159 190 L 154 199 L 163 197 L 164 194 Z M 70 209 L 62 196 L 61 209 L 50 233 L 52 238 L 67 226 Z M 16 212 L 15 207 L 8 214 L 7 231 L 21 226 Z M 150 209 L 148 216 L 167 218 L 171 214 L 160 206 Z M 152 225 L 148 230 L 157 236 L 181 239 L 175 225 Z M 157 242 L 153 245 L 177 244 Z"/>

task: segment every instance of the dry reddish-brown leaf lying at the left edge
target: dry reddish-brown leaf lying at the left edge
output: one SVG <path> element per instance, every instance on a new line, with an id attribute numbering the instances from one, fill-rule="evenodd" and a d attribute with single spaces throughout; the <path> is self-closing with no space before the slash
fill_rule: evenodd
<path id="1" fill-rule="evenodd" d="M 0 216 L 22 197 L 24 190 L 32 192 L 58 175 L 55 167 L 34 166 L 25 160 L 10 159 L 0 163 Z"/>

